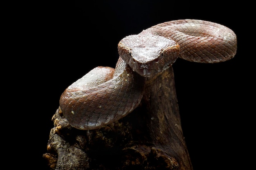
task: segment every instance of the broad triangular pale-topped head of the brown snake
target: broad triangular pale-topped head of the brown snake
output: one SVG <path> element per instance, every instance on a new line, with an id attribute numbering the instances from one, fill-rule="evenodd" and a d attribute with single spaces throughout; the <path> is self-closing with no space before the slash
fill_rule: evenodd
<path id="1" fill-rule="evenodd" d="M 173 40 L 142 31 L 124 37 L 118 44 L 120 57 L 141 76 L 150 77 L 169 68 L 180 54 Z"/>

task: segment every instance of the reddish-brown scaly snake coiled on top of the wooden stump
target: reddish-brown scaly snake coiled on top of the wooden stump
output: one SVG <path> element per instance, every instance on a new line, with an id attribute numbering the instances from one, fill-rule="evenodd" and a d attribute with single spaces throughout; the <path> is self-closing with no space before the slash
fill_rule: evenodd
<path id="1" fill-rule="evenodd" d="M 232 59 L 236 50 L 236 34 L 222 24 L 193 19 L 156 24 L 121 39 L 115 68 L 92 69 L 65 89 L 59 106 L 72 127 L 99 129 L 138 107 L 147 78 L 161 74 L 177 58 L 220 63 Z"/>

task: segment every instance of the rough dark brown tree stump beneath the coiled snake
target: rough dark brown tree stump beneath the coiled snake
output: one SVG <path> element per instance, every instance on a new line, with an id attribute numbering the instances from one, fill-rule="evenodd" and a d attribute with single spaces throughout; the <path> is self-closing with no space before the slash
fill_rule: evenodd
<path id="1" fill-rule="evenodd" d="M 58 108 L 48 153 L 56 170 L 192 170 L 183 137 L 173 68 L 148 78 L 139 107 L 100 129 L 72 128 Z"/>

